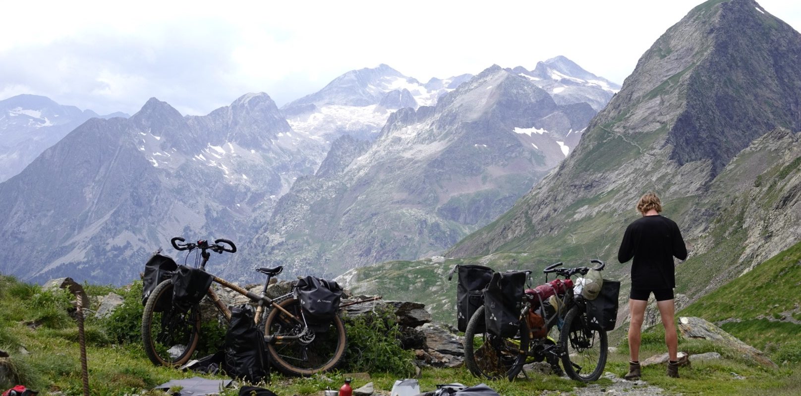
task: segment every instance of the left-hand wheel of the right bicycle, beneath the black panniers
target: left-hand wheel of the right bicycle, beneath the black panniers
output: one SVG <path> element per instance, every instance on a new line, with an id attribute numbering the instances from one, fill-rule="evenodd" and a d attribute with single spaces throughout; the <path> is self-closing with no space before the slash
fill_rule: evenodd
<path id="1" fill-rule="evenodd" d="M 502 338 L 484 329 L 485 306 L 480 306 L 465 329 L 465 365 L 478 378 L 508 378 L 523 370 L 529 350 L 529 326 L 520 321 L 520 338 Z"/>

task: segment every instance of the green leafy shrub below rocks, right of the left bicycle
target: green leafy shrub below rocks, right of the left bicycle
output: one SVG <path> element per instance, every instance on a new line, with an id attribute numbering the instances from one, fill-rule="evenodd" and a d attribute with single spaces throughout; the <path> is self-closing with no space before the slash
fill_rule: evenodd
<path id="1" fill-rule="evenodd" d="M 345 319 L 348 350 L 344 370 L 414 374 L 413 352 L 400 347 L 400 329 L 391 311 Z"/>

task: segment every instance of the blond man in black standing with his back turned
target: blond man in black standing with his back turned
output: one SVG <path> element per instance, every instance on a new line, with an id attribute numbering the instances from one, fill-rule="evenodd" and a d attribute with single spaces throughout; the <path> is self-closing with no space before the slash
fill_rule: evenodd
<path id="1" fill-rule="evenodd" d="M 665 326 L 665 343 L 670 362 L 667 375 L 678 378 L 678 336 L 674 322 L 673 289 L 676 278 L 673 258 L 684 260 L 687 249 L 682 233 L 670 218 L 659 214 L 662 202 L 654 193 L 648 193 L 637 202 L 637 211 L 642 214 L 626 228 L 623 242 L 618 250 L 618 260 L 631 263 L 631 293 L 629 295 L 629 374 L 623 378 L 640 378 L 640 334 L 642 317 L 645 315 L 648 297 L 654 293 L 662 326 Z"/>

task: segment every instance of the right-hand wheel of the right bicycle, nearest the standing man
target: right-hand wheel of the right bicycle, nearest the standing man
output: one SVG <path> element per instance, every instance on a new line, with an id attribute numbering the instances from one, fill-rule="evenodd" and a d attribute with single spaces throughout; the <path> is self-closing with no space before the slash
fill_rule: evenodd
<path id="1" fill-rule="evenodd" d="M 578 306 L 570 308 L 559 342 L 566 348 L 562 366 L 568 377 L 590 382 L 601 378 L 606 366 L 606 331 L 590 328 L 590 318 Z"/>

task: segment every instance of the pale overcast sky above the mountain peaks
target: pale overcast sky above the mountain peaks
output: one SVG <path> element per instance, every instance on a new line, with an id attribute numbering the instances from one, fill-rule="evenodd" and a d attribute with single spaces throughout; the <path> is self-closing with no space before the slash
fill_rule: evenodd
<path id="1" fill-rule="evenodd" d="M 622 83 L 701 2 L 6 2 L 0 99 L 134 114 L 156 97 L 207 114 L 248 92 L 282 106 L 380 63 L 426 82 L 557 55 Z M 801 30 L 801 1 L 759 4 Z"/>

